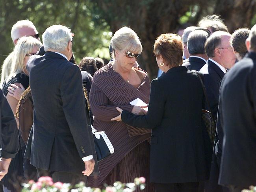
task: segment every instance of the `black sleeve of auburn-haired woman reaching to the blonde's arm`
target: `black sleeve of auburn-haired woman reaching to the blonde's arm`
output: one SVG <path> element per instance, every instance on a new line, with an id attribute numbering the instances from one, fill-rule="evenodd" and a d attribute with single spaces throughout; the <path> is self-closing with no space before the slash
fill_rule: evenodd
<path id="1" fill-rule="evenodd" d="M 122 121 L 135 127 L 154 129 L 161 123 L 165 107 L 164 89 L 158 79 L 151 82 L 148 113 L 135 115 L 128 111 L 122 111 Z"/>

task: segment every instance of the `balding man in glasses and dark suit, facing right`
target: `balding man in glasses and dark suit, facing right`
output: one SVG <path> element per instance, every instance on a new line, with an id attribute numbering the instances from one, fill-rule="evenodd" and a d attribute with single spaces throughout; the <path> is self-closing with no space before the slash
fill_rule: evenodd
<path id="1" fill-rule="evenodd" d="M 236 57 L 230 47 L 231 35 L 224 31 L 214 32 L 206 41 L 205 50 L 209 59 L 201 68 L 200 72 L 204 74 L 204 84 L 210 103 L 210 108 L 214 120 L 217 120 L 217 111 L 219 106 L 220 83 L 226 73 L 226 68 L 231 68 L 236 61 Z M 218 138 L 215 139 L 217 141 Z M 216 148 L 217 149 L 217 148 Z M 223 189 L 217 185 L 219 176 L 219 167 L 221 163 L 221 151 L 214 151 L 212 154 L 211 171 L 209 182 L 206 183 L 206 192 L 221 192 Z"/>

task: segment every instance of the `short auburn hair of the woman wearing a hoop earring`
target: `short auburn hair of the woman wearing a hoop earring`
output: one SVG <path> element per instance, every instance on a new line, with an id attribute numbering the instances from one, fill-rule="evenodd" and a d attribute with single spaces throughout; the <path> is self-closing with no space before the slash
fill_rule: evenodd
<path id="1" fill-rule="evenodd" d="M 155 41 L 154 54 L 162 55 L 165 65 L 173 68 L 182 65 L 183 43 L 179 35 L 173 33 L 161 34 Z"/>

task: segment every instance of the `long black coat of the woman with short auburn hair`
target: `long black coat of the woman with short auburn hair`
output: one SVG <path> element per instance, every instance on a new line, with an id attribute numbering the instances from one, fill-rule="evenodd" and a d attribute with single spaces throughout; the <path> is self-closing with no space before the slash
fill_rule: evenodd
<path id="1" fill-rule="evenodd" d="M 207 179 L 201 120 L 203 98 L 198 76 L 179 66 L 152 81 L 147 115 L 123 111 L 123 122 L 152 129 L 151 182 L 186 183 Z"/>

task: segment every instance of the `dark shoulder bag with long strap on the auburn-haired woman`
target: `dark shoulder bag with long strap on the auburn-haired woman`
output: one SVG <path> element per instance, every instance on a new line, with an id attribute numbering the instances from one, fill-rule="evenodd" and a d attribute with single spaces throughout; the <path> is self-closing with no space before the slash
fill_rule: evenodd
<path id="1" fill-rule="evenodd" d="M 193 70 L 193 72 L 195 74 L 197 74 L 198 78 L 200 79 L 201 85 L 202 85 L 202 89 L 204 91 L 204 97 L 206 100 L 206 103 L 210 109 L 210 111 L 207 111 L 206 109 L 202 109 L 202 120 L 204 122 L 204 125 L 206 127 L 207 133 L 209 135 L 211 144 L 214 144 L 214 139 L 215 139 L 215 133 L 216 133 L 216 120 L 213 118 L 212 114 L 211 114 L 211 107 L 210 107 L 210 103 L 206 94 L 206 89 L 204 87 L 204 82 L 202 80 L 201 75 L 198 73 L 198 71 Z"/>

